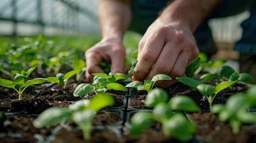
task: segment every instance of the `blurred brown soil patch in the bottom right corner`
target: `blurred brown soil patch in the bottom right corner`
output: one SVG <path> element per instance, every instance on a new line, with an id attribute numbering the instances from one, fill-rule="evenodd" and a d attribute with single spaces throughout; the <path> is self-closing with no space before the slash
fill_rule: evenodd
<path id="1" fill-rule="evenodd" d="M 188 114 L 197 127 L 196 134 L 201 142 L 256 142 L 255 127 L 243 125 L 235 135 L 229 123 L 218 120 L 217 115 L 208 112 Z"/>

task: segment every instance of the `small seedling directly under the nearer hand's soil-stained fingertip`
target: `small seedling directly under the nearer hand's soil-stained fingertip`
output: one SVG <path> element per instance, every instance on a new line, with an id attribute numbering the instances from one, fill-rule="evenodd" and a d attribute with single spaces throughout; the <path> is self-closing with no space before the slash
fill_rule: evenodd
<path id="1" fill-rule="evenodd" d="M 129 83 L 125 87 L 137 88 L 138 91 L 147 91 L 147 93 L 149 93 L 150 91 L 152 91 L 155 83 L 160 80 L 171 80 L 171 77 L 167 76 L 166 74 L 157 74 L 156 76 L 153 76 L 152 79 L 144 80 L 144 83 L 134 81 Z"/>

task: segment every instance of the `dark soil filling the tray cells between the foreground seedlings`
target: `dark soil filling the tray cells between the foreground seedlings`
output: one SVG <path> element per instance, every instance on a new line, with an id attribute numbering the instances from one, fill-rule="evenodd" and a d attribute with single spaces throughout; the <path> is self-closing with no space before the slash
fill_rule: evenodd
<path id="1" fill-rule="evenodd" d="M 6 118 L 0 119 L 0 142 L 85 142 L 82 131 L 72 122 L 43 129 L 32 126 L 33 120 L 47 108 L 68 107 L 75 101 L 94 96 L 88 94 L 84 97 L 73 97 L 73 91 L 79 83 L 86 83 L 84 76 L 79 81 L 71 78 L 66 88 L 51 83 L 33 85 L 26 89 L 22 100 L 17 100 L 18 94 L 12 89 L 0 87 L 0 113 L 5 113 Z M 215 98 L 214 104 L 225 103 L 229 96 L 236 92 L 244 92 L 246 86 L 237 85 L 234 89 L 235 91 L 226 89 L 221 92 Z M 203 111 L 209 109 L 205 97 L 179 82 L 166 88 L 166 91 L 169 93 L 169 98 L 187 95 L 193 98 Z M 147 93 L 134 89 L 128 92 L 108 91 L 108 93 L 115 97 L 116 104 L 97 113 L 93 121 L 91 139 L 88 142 L 178 142 L 173 138 L 165 137 L 162 133 L 162 125 L 158 122 L 136 138 L 129 136 L 128 114 L 133 110 L 152 110 L 144 105 Z M 233 135 L 229 123 L 220 122 L 215 114 L 199 112 L 189 114 L 189 118 L 193 119 L 197 127 L 196 137 L 191 142 L 256 142 L 256 131 L 248 125 L 243 125 L 238 135 Z"/>

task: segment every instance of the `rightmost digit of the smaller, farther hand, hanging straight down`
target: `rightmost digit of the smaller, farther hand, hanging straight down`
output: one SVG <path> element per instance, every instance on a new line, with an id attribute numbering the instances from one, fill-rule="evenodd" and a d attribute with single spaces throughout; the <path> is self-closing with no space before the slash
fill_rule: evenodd
<path id="1" fill-rule="evenodd" d="M 111 57 L 111 71 L 112 73 L 124 73 L 125 69 L 125 51 L 115 51 L 115 56 Z"/>

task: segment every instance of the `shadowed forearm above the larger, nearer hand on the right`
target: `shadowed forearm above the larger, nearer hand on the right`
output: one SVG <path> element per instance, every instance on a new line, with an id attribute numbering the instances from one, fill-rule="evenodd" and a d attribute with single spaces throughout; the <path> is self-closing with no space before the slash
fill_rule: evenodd
<path id="1" fill-rule="evenodd" d="M 161 20 L 189 26 L 192 32 L 221 0 L 175 0 L 159 16 Z"/>

